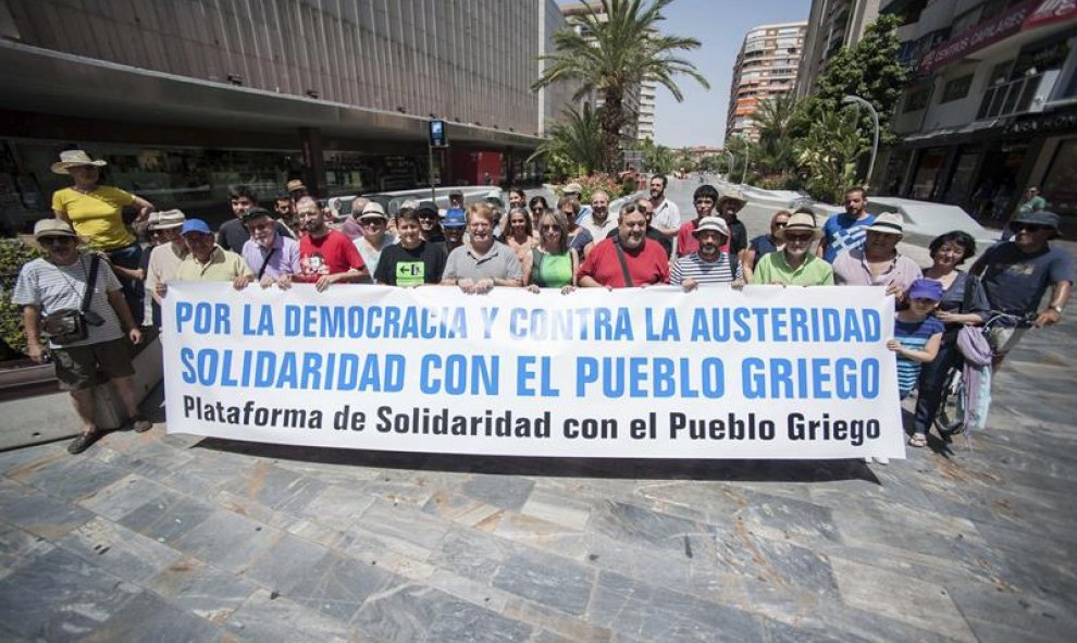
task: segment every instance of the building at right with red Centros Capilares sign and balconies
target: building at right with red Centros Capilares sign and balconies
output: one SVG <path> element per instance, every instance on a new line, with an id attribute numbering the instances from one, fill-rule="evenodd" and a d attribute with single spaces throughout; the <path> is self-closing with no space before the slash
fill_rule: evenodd
<path id="1" fill-rule="evenodd" d="M 903 141 L 877 163 L 883 194 L 1008 218 L 1037 185 L 1077 215 L 1077 7 L 1060 0 L 891 0 L 916 79 L 895 107 Z"/>

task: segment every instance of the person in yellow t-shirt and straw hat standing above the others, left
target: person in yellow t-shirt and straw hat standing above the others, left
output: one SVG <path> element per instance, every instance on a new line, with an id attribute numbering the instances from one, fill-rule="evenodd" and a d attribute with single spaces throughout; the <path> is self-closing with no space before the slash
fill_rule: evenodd
<path id="1" fill-rule="evenodd" d="M 52 171 L 71 176 L 75 184 L 52 194 L 52 211 L 57 219 L 70 223 L 75 233 L 85 237 L 90 248 L 101 252 L 110 264 L 138 270 L 143 248 L 124 223 L 123 209 L 127 206 L 138 209 L 138 218 L 135 219 L 135 225 L 138 225 L 149 217 L 153 205 L 117 187 L 100 185 L 101 168 L 106 164 L 100 159 L 91 159 L 83 150 L 60 152 L 60 161 L 52 163 Z M 145 297 L 141 284 L 120 273 L 116 276 L 123 285 L 127 305 L 139 318 Z M 136 321 L 141 323 L 140 319 Z"/>

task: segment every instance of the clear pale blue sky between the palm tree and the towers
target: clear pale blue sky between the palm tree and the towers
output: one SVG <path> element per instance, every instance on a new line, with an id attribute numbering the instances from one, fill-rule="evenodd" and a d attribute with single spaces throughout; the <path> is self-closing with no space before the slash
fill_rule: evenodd
<path id="1" fill-rule="evenodd" d="M 679 77 L 677 84 L 684 95 L 679 103 L 659 87 L 655 143 L 670 147 L 721 145 L 733 62 L 744 34 L 759 25 L 807 20 L 810 7 L 810 0 L 674 0 L 667 7 L 659 28 L 700 40 L 702 47 L 685 58 L 707 78 L 710 89 Z"/>

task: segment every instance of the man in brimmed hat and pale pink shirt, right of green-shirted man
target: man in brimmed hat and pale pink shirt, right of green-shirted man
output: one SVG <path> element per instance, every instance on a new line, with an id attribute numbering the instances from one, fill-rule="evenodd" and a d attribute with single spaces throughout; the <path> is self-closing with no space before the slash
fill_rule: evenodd
<path id="1" fill-rule="evenodd" d="M 899 301 L 913 282 L 924 276 L 920 267 L 898 252 L 902 237 L 900 214 L 880 214 L 866 230 L 864 248 L 846 250 L 834 259 L 834 283 L 839 286 L 887 286 Z"/>

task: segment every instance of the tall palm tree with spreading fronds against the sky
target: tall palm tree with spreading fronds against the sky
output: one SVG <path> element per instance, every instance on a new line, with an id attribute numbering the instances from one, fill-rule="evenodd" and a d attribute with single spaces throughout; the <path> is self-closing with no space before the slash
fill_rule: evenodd
<path id="1" fill-rule="evenodd" d="M 695 38 L 665 36 L 657 29 L 665 20 L 661 10 L 673 0 L 654 0 L 644 5 L 642 0 L 602 0 L 602 10 L 589 5 L 580 25 L 590 36 L 584 38 L 575 29 L 554 34 L 554 53 L 540 57 L 546 61 L 542 76 L 532 90 L 557 82 L 579 84 L 572 97 L 579 101 L 592 91 L 603 99 L 602 168 L 607 172 L 618 170 L 621 129 L 629 114 L 624 110 L 624 95 L 643 82 L 663 85 L 678 102 L 684 99 L 673 77 L 685 74 L 703 87 L 707 84 L 691 62 L 678 58 L 681 51 L 698 49 Z M 604 20 L 599 20 L 604 15 Z"/>

